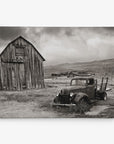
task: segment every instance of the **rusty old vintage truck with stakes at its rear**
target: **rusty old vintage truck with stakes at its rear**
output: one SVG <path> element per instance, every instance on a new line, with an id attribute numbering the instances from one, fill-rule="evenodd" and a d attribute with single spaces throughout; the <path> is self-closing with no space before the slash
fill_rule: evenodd
<path id="1" fill-rule="evenodd" d="M 96 100 L 107 100 L 108 78 L 102 78 L 99 85 L 94 77 L 71 79 L 70 85 L 62 88 L 53 100 L 53 106 L 78 106 L 80 111 L 87 111 Z"/>

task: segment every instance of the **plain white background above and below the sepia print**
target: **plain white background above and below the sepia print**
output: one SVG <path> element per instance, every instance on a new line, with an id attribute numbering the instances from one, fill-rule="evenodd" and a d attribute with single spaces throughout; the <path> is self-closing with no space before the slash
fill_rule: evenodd
<path id="1" fill-rule="evenodd" d="M 1 26 L 114 26 L 111 0 L 3 0 Z M 0 120 L 1 144 L 111 144 L 113 119 Z"/>

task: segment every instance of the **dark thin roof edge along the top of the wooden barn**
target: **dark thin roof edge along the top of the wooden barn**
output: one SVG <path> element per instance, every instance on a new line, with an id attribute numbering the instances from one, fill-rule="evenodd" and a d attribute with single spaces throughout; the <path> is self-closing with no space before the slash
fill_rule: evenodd
<path id="1" fill-rule="evenodd" d="M 35 49 L 35 51 L 40 55 L 40 57 L 43 59 L 43 61 L 45 61 L 44 57 L 39 53 L 39 51 L 35 48 L 35 46 L 34 46 L 31 42 L 29 42 L 28 40 L 26 40 L 25 38 L 23 38 L 22 36 L 19 36 L 19 37 L 17 37 L 16 39 L 14 39 L 13 41 L 11 41 L 11 42 L 6 46 L 6 48 L 7 48 L 11 43 L 15 42 L 15 41 L 16 41 L 17 39 L 19 39 L 19 38 L 22 38 L 22 39 L 25 40 L 27 43 L 29 43 L 29 44 Z M 5 48 L 5 49 L 6 49 L 6 48 Z M 3 52 L 5 51 L 5 49 L 1 52 L 0 56 L 3 54 Z"/>

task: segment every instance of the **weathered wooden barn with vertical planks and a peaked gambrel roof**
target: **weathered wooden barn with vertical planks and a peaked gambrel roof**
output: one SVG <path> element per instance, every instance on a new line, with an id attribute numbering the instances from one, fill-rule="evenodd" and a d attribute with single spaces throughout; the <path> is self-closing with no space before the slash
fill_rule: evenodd
<path id="1" fill-rule="evenodd" d="M 44 88 L 43 61 L 32 43 L 16 38 L 0 54 L 0 89 Z"/>

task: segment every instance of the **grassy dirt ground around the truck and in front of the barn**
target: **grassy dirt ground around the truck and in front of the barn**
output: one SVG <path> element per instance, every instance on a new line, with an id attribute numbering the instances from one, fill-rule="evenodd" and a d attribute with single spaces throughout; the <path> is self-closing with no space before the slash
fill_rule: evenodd
<path id="1" fill-rule="evenodd" d="M 46 79 L 45 89 L 24 91 L 0 91 L 0 118 L 113 118 L 114 85 L 111 81 L 107 101 L 96 102 L 83 114 L 70 109 L 56 109 L 52 101 L 59 89 L 69 85 L 70 79 Z"/>

